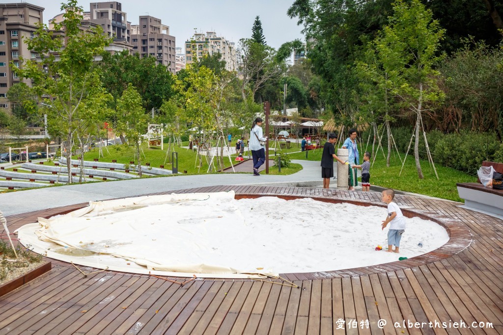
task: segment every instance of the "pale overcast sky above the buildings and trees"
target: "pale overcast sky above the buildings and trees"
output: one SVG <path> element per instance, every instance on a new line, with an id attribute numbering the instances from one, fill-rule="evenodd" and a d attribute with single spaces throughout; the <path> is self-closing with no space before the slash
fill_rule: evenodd
<path id="1" fill-rule="evenodd" d="M 123 0 L 122 11 L 127 13 L 131 24 L 138 24 L 140 15 L 150 15 L 161 19 L 170 26 L 170 34 L 175 36 L 177 46 L 183 47 L 187 39 L 197 31 L 214 31 L 233 42 L 251 36 L 251 27 L 257 15 L 260 16 L 267 44 L 278 48 L 282 43 L 302 38 L 301 27 L 291 20 L 286 12 L 294 0 Z M 0 0 L 2 3 L 18 1 Z M 25 1 L 23 1 L 25 2 Z M 44 23 L 61 13 L 59 0 L 29 0 L 26 3 L 40 6 L 44 10 Z M 78 0 L 79 6 L 88 12 L 90 2 Z"/>

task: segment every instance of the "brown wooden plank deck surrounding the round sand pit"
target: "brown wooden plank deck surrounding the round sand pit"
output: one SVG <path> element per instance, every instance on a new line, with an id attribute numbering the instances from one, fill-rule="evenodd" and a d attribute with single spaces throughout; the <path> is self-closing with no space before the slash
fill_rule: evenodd
<path id="1" fill-rule="evenodd" d="M 230 189 L 241 197 L 383 205 L 378 193 L 311 188 L 215 186 L 183 192 Z M 405 215 L 444 225 L 449 243 L 400 262 L 282 275 L 300 289 L 222 279 L 181 287 L 117 272 L 83 278 L 71 265 L 53 261 L 50 272 L 0 298 L 0 334 L 503 333 L 503 221 L 449 201 L 400 195 L 395 200 Z M 10 229 L 83 205 L 14 215 L 8 218 Z"/>

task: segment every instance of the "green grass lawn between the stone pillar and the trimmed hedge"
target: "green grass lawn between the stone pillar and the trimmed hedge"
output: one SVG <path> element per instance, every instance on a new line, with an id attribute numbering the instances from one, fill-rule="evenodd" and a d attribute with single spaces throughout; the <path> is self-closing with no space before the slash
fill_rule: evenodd
<path id="1" fill-rule="evenodd" d="M 321 153 L 321 150 L 309 150 L 307 160 L 320 161 Z M 403 159 L 405 154 L 400 154 L 400 156 Z M 305 160 L 306 154 L 291 154 L 290 158 Z M 370 162 L 372 163 L 372 161 L 373 158 Z M 363 162 L 362 157 L 360 157 L 360 162 Z M 440 178 L 440 180 L 437 180 L 433 168 L 430 167 L 428 161 L 424 160 L 421 161 L 421 167 L 425 178 L 419 179 L 414 157 L 410 155 L 407 156 L 405 166 L 399 176 L 401 165 L 395 152 L 394 155 L 391 155 L 390 166 L 386 167 L 386 160 L 382 152 L 379 152 L 374 165 L 370 168 L 370 184 L 462 202 L 463 200 L 458 195 L 456 183 L 477 181 L 476 176 L 436 164 L 435 167 Z"/>

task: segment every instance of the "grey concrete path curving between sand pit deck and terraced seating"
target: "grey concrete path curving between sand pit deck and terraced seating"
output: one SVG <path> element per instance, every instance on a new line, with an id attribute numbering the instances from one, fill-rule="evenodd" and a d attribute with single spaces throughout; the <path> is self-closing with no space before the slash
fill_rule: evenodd
<path id="1" fill-rule="evenodd" d="M 4 215 L 8 216 L 91 200 L 106 200 L 215 185 L 275 185 L 295 187 L 322 185 L 321 169 L 318 161 L 293 160 L 292 162 L 301 164 L 303 169 L 288 176 L 266 175 L 264 173 L 260 176 L 254 176 L 251 173 L 180 175 L 9 192 L 0 194 L 0 209 L 4 212 Z M 336 187 L 337 181 L 331 180 L 330 186 Z"/>

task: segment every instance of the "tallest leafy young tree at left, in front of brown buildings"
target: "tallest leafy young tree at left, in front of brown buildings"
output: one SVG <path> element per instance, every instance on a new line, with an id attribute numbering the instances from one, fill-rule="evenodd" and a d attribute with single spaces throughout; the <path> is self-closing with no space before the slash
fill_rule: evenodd
<path id="1" fill-rule="evenodd" d="M 28 50 L 36 52 L 41 61 L 20 57 L 22 66 L 11 66 L 21 77 L 30 78 L 37 96 L 44 96 L 44 103 L 50 105 L 39 111 L 48 115 L 49 132 L 63 140 L 71 183 L 71 153 L 78 124 L 88 118 L 90 106 L 99 113 L 107 100 L 95 59 L 105 54 L 110 39 L 99 26 L 80 26 L 83 10 L 76 0 L 63 3 L 61 11 L 63 21 L 54 23 L 54 31 L 39 25 L 35 37 L 25 40 Z"/>

